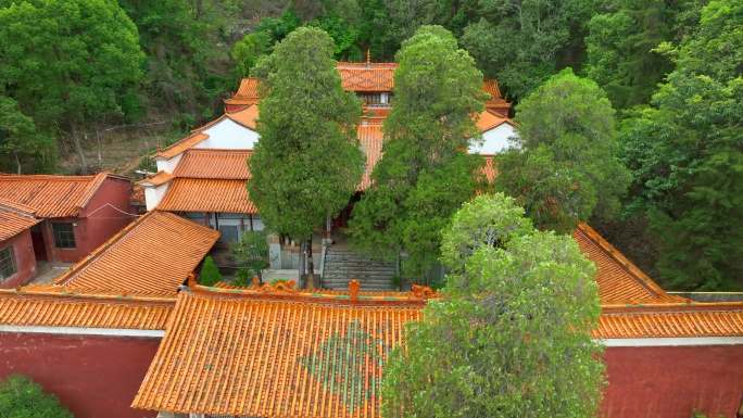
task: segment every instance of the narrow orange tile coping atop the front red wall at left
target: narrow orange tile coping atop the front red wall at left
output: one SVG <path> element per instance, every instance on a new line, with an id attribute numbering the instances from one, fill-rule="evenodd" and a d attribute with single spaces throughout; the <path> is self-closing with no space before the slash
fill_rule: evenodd
<path id="1" fill-rule="evenodd" d="M 0 290 L 0 325 L 162 330 L 175 299 Z"/>

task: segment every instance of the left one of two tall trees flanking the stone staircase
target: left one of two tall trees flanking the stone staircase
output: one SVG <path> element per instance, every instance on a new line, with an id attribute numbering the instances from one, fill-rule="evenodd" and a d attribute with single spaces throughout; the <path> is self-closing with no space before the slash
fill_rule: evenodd
<path id="1" fill-rule="evenodd" d="M 303 27 L 256 67 L 265 90 L 248 189 L 269 230 L 306 240 L 311 275 L 314 228 L 345 207 L 364 169 L 361 102 L 343 91 L 332 53 L 325 31 Z"/>

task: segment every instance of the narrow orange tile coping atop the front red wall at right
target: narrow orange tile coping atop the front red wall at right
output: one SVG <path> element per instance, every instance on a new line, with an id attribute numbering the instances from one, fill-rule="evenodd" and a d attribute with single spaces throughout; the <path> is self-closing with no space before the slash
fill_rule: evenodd
<path id="1" fill-rule="evenodd" d="M 602 339 L 743 337 L 743 303 L 603 306 Z"/>

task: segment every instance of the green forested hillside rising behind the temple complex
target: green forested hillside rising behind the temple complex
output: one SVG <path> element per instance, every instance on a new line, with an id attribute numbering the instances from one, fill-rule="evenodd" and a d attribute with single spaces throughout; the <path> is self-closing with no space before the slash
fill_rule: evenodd
<path id="1" fill-rule="evenodd" d="M 741 287 L 740 0 L 0 0 L 0 170 L 130 172 L 221 113 L 295 28 L 327 31 L 338 60 L 392 61 L 424 24 L 454 34 L 517 122 L 571 105 L 527 99 L 550 83 L 584 89 L 608 125 L 559 109 L 561 132 L 600 129 L 624 164 L 607 175 L 601 152 L 563 155 L 603 176 L 593 202 L 614 207 L 592 224 L 670 288 Z"/>

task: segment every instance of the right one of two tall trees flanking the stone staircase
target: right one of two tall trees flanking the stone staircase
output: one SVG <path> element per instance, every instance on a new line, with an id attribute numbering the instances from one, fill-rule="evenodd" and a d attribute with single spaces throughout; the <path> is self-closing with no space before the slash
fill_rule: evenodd
<path id="1" fill-rule="evenodd" d="M 439 256 L 440 231 L 475 193 L 481 161 L 467 154 L 483 109 L 482 74 L 441 26 L 424 26 L 396 55 L 394 105 L 385 122 L 385 157 L 354 205 L 350 233 L 370 254 L 407 256 L 421 276 Z"/>

